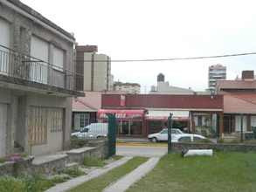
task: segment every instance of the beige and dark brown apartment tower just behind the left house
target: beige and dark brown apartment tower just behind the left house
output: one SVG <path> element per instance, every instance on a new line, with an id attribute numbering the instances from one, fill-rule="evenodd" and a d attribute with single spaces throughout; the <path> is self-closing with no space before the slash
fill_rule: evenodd
<path id="1" fill-rule="evenodd" d="M 96 45 L 77 45 L 74 51 L 76 72 L 83 74 L 77 79 L 76 87 L 80 91 L 112 91 L 114 77 L 111 74 L 111 58 L 97 54 Z"/>

